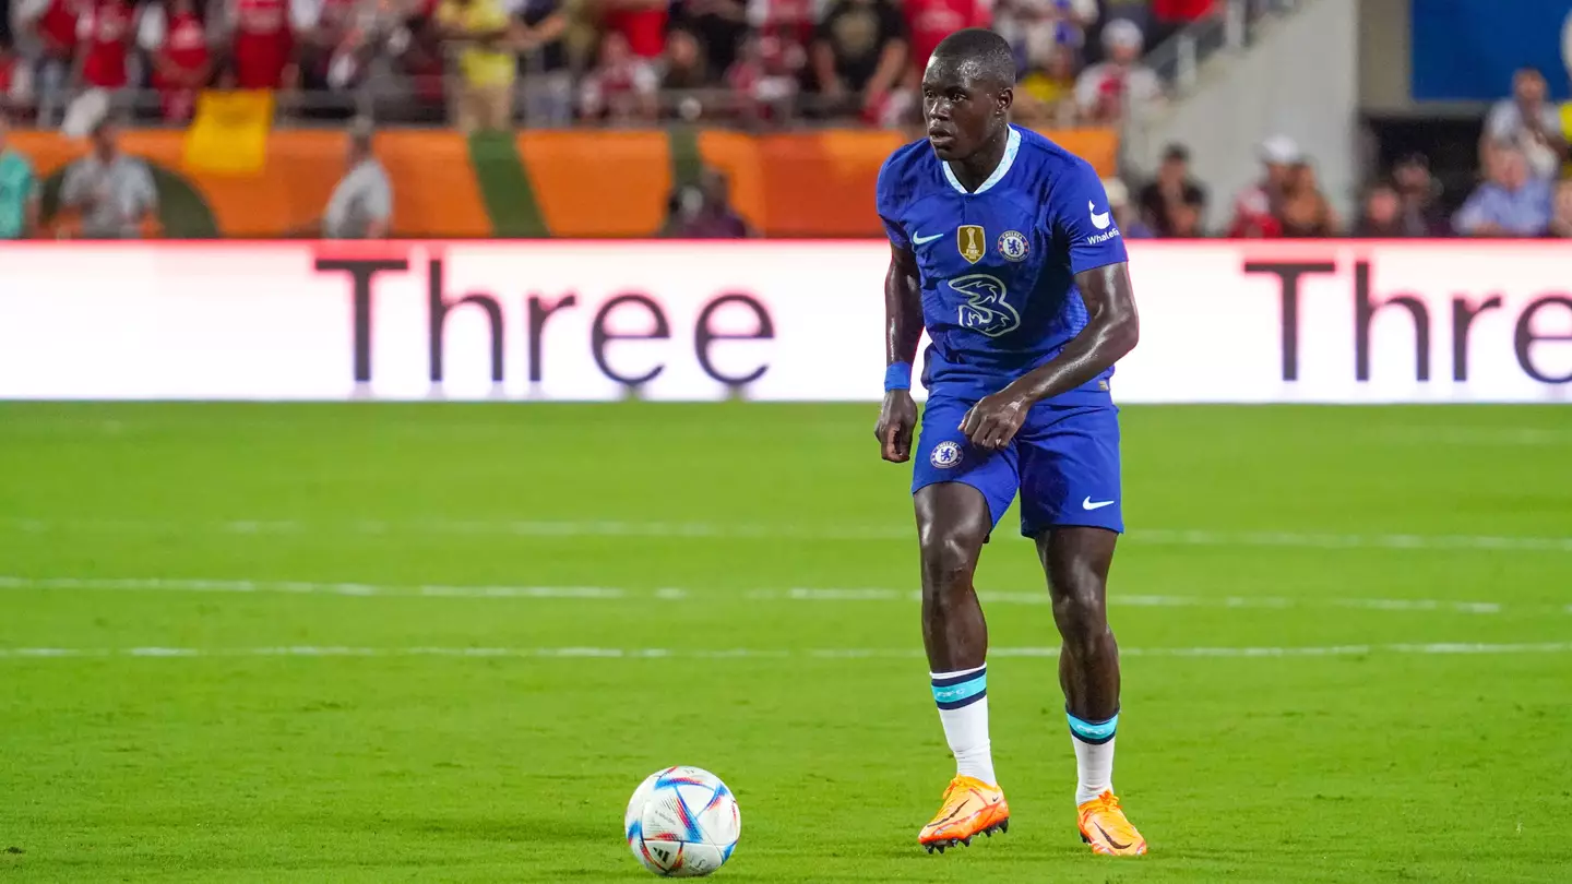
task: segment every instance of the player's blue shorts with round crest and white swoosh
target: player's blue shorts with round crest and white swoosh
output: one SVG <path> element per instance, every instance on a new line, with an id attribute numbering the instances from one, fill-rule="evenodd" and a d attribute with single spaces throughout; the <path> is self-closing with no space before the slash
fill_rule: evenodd
<path id="1" fill-rule="evenodd" d="M 1027 536 L 1056 525 L 1124 532 L 1118 407 L 1038 403 L 1000 451 L 967 442 L 960 420 L 970 407 L 960 400 L 927 400 L 912 451 L 912 494 L 940 481 L 970 484 L 987 499 L 997 527 L 1020 491 L 1020 533 Z"/>

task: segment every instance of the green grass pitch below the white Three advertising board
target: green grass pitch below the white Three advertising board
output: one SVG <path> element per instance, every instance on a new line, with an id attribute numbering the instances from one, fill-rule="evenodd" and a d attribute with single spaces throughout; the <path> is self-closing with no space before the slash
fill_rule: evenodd
<path id="1" fill-rule="evenodd" d="M 1140 860 L 1075 835 L 1012 514 L 979 587 L 1014 824 L 916 849 L 951 761 L 872 418 L 0 406 L 0 879 L 641 881 L 623 804 L 676 763 L 737 793 L 737 882 L 1567 879 L 1567 409 L 1126 409 Z"/>

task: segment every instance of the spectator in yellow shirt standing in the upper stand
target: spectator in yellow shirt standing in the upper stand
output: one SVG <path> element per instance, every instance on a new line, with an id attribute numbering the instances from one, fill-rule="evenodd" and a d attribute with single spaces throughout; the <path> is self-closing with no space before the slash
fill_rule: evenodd
<path id="1" fill-rule="evenodd" d="M 437 25 L 459 50 L 453 124 L 461 132 L 511 129 L 519 61 L 508 49 L 509 22 L 501 0 L 442 0 Z"/>

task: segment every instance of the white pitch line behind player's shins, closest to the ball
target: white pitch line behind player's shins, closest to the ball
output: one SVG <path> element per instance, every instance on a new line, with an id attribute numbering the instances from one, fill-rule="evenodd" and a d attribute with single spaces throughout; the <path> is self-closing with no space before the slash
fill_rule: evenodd
<path id="1" fill-rule="evenodd" d="M 1385 643 L 1305 648 L 1119 648 L 1126 657 L 1344 657 L 1368 654 L 1564 654 L 1572 642 L 1517 645 Z M 1056 657 L 1058 648 L 989 648 L 992 657 Z M 58 657 L 602 657 L 602 659 L 921 659 L 918 648 L 693 650 L 693 648 L 0 648 L 0 659 Z"/>

